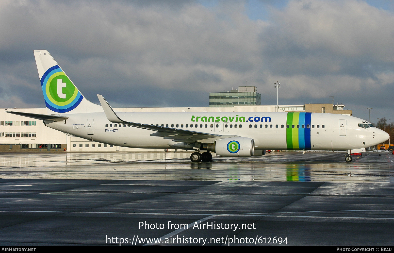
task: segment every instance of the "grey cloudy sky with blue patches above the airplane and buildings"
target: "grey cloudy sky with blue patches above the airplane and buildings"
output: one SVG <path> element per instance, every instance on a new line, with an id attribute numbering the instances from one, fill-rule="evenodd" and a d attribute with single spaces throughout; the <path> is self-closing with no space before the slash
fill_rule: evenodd
<path id="1" fill-rule="evenodd" d="M 262 104 L 343 103 L 393 119 L 391 1 L 0 1 L 0 108 L 45 107 L 34 49 L 114 107 L 208 106 L 256 86 Z"/>

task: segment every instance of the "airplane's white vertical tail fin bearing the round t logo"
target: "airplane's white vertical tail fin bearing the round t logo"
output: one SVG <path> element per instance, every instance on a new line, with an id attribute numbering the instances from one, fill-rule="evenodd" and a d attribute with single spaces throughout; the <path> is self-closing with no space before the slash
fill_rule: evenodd
<path id="1" fill-rule="evenodd" d="M 103 112 L 87 100 L 46 50 L 34 50 L 46 109 L 54 113 Z"/>

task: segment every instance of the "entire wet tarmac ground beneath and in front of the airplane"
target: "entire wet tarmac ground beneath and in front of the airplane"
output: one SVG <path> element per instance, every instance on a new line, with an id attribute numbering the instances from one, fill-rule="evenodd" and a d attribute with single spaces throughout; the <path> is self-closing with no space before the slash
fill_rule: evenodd
<path id="1" fill-rule="evenodd" d="M 394 244 L 391 153 L 189 156 L 2 153 L 0 245 Z"/>

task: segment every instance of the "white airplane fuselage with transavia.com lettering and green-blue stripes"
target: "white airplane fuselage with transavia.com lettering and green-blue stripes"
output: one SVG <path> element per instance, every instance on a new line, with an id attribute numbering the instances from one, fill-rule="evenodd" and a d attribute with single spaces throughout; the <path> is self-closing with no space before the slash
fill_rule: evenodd
<path id="1" fill-rule="evenodd" d="M 371 147 L 388 139 L 388 134 L 383 130 L 358 126 L 366 123 L 363 119 L 310 113 L 307 122 L 308 114 L 302 113 L 117 112 L 123 120 L 133 123 L 252 138 L 255 149 L 346 151 Z M 73 136 L 117 146 L 171 148 L 168 144 L 171 140 L 151 136 L 155 131 L 125 125 L 119 127 L 119 124 L 115 127 L 104 112 L 64 115 L 69 117 L 67 121 L 46 125 Z"/>

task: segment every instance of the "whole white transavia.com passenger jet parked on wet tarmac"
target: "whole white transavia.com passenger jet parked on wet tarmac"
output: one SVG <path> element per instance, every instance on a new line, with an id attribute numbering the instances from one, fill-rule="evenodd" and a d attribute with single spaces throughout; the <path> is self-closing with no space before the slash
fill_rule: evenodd
<path id="1" fill-rule="evenodd" d="M 102 95 L 87 100 L 47 50 L 34 50 L 48 114 L 8 112 L 43 120 L 69 136 L 122 147 L 194 150 L 192 162 L 217 156 L 261 156 L 266 150 L 365 152 L 389 135 L 364 119 L 310 112 L 115 112 Z M 204 152 L 201 152 L 204 151 Z"/>

